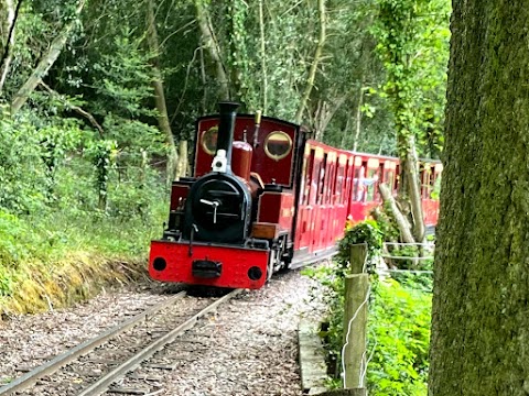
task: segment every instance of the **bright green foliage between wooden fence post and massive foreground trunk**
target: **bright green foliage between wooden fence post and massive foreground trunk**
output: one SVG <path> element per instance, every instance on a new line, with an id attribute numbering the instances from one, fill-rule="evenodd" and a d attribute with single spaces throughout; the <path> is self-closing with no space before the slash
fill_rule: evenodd
<path id="1" fill-rule="evenodd" d="M 386 280 L 373 288 L 367 366 L 371 395 L 427 395 L 431 294 L 411 286 Z"/>

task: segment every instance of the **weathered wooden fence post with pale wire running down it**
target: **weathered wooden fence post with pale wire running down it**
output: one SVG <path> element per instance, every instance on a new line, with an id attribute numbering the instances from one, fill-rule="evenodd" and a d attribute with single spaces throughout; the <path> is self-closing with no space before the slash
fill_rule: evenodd
<path id="1" fill-rule="evenodd" d="M 367 274 L 347 275 L 345 277 L 344 307 L 344 387 L 364 387 L 366 371 L 366 333 L 367 333 Z"/>

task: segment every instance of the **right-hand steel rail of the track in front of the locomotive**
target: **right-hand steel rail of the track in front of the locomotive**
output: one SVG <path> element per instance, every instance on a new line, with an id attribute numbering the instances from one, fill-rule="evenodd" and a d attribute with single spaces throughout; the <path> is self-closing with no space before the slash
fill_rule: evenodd
<path id="1" fill-rule="evenodd" d="M 238 295 L 242 289 L 235 289 L 227 294 L 226 296 L 217 299 L 215 302 L 208 305 L 206 308 L 202 309 L 198 314 L 194 315 L 185 322 L 176 327 L 175 329 L 171 330 L 165 336 L 159 338 L 156 341 L 152 342 L 145 349 L 141 350 L 139 353 L 130 358 L 128 361 L 119 365 L 118 367 L 114 369 L 111 372 L 107 373 L 104 377 L 91 384 L 89 387 L 85 388 L 82 393 L 77 396 L 99 396 L 105 393 L 108 387 L 116 382 L 119 377 L 123 376 L 128 372 L 133 371 L 138 367 L 141 362 L 151 358 L 154 353 L 163 349 L 166 344 L 173 342 L 179 336 L 181 336 L 184 331 L 193 328 L 195 323 L 198 321 L 199 318 L 205 316 L 206 314 L 215 310 L 220 304 L 229 300 L 230 298 Z"/>

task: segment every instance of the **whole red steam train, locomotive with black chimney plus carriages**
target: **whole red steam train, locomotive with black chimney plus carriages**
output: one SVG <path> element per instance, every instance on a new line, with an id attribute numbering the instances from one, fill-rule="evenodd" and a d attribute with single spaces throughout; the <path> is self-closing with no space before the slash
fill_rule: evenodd
<path id="1" fill-rule="evenodd" d="M 293 123 L 237 114 L 237 103 L 219 108 L 197 121 L 193 177 L 173 183 L 168 227 L 151 242 L 154 279 L 260 288 L 282 267 L 332 254 L 346 219 L 380 205 L 379 183 L 397 193 L 397 158 L 331 147 Z M 441 164 L 422 164 L 427 226 L 440 174 Z"/>

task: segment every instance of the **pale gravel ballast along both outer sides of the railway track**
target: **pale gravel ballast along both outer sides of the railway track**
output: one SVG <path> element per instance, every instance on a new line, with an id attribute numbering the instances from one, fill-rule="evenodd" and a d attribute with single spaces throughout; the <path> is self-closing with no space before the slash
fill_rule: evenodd
<path id="1" fill-rule="evenodd" d="M 298 324 L 302 316 L 317 320 L 324 309 L 311 297 L 314 287 L 291 271 L 220 306 L 192 330 L 201 348 L 163 374 L 156 394 L 302 395 Z M 162 301 L 174 288 L 153 284 L 112 290 L 71 309 L 0 322 L 0 384 Z"/>

